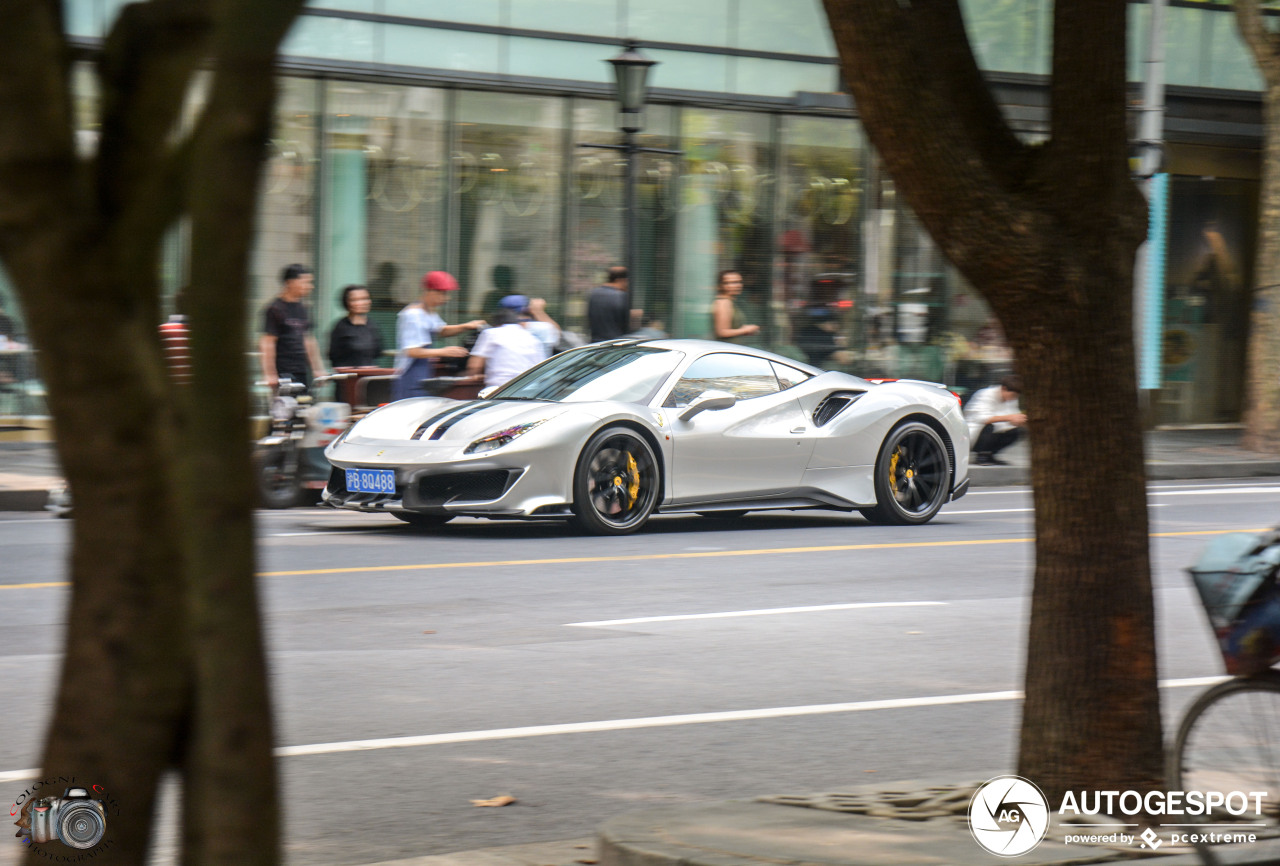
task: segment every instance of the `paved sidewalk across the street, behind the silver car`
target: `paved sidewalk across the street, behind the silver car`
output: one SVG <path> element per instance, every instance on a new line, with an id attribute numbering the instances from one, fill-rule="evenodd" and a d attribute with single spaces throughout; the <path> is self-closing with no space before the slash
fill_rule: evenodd
<path id="1" fill-rule="evenodd" d="M 1030 484 L 1030 449 L 1025 440 L 1000 453 L 1009 466 L 974 466 L 973 487 Z M 1240 430 L 1153 430 L 1147 434 L 1147 477 L 1248 478 L 1280 476 L 1280 454 L 1240 448 Z M 0 441 L 0 512 L 41 510 L 50 487 L 61 484 L 52 443 Z"/>

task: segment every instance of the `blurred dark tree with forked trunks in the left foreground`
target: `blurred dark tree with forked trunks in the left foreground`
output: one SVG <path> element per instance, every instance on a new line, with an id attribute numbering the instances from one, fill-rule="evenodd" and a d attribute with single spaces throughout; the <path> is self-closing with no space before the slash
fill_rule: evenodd
<path id="1" fill-rule="evenodd" d="M 186 785 L 184 862 L 279 860 L 241 335 L 271 65 L 301 5 L 125 6 L 97 64 L 97 150 L 81 159 L 60 0 L 0 4 L 0 258 L 40 349 L 76 509 L 42 771 L 118 805 L 93 857 L 104 865 L 145 861 L 170 768 Z M 206 60 L 212 96 L 183 138 Z M 182 212 L 198 269 L 189 388 L 170 381 L 156 331 L 160 242 Z"/>

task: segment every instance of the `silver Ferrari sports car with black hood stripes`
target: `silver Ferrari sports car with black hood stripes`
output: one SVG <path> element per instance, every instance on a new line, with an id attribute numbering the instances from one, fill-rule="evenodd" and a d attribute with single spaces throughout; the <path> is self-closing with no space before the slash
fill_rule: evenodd
<path id="1" fill-rule="evenodd" d="M 727 343 L 594 343 L 480 394 L 399 400 L 353 425 L 325 450 L 324 501 L 420 527 L 467 514 L 621 535 L 671 512 L 924 523 L 969 486 L 969 435 L 941 385 Z"/>

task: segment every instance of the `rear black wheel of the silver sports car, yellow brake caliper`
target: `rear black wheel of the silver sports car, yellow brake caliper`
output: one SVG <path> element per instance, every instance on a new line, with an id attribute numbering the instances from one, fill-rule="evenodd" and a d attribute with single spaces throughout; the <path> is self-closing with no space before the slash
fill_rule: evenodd
<path id="1" fill-rule="evenodd" d="M 859 509 L 872 523 L 928 523 L 951 492 L 951 458 L 938 431 L 920 421 L 893 427 L 876 458 L 876 507 Z"/>

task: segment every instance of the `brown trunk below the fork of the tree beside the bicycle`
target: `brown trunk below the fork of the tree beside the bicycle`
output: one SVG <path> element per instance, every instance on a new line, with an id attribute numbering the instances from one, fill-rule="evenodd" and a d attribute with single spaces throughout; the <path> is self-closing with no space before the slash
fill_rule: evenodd
<path id="1" fill-rule="evenodd" d="M 1117 262 L 1119 264 L 1119 262 Z M 1128 265 L 1128 262 L 1125 262 Z M 1143 440 L 1126 292 L 1028 317 L 1016 340 L 1030 429 L 1036 583 L 1018 771 L 1065 791 L 1161 785 Z"/>

